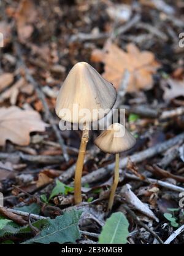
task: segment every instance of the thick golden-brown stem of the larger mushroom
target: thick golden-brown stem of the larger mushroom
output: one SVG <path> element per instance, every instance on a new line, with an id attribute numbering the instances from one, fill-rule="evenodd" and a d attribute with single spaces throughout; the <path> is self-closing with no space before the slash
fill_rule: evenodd
<path id="1" fill-rule="evenodd" d="M 77 158 L 76 168 L 75 168 L 75 180 L 74 180 L 74 201 L 75 204 L 79 204 L 82 202 L 81 195 L 81 178 L 82 178 L 82 170 L 83 170 L 83 162 L 86 153 L 86 145 L 89 139 L 89 130 L 84 129 L 82 131 L 82 138 L 80 142 L 79 155 Z"/>

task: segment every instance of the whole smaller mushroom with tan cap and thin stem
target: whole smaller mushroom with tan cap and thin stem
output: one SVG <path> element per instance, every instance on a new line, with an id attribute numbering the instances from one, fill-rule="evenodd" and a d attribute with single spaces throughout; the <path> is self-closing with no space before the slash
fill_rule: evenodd
<path id="1" fill-rule="evenodd" d="M 120 123 L 113 123 L 107 130 L 102 131 L 102 133 L 95 139 L 94 144 L 106 153 L 115 153 L 115 171 L 108 204 L 109 211 L 112 209 L 113 198 L 119 181 L 120 153 L 131 149 L 131 147 L 136 144 L 136 139 L 123 125 Z"/>

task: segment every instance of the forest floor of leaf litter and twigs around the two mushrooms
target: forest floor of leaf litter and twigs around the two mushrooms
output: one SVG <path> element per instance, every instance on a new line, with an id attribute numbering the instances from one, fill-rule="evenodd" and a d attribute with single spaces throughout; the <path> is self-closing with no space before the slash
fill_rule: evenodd
<path id="1" fill-rule="evenodd" d="M 44 222 L 56 228 L 56 218 L 69 222 L 66 212 L 80 210 L 71 213 L 71 242 L 98 242 L 105 220 L 123 212 L 128 243 L 183 243 L 183 1 L 9 0 L 0 18 L 0 242 L 67 242 L 44 240 Z M 90 133 L 83 203 L 74 206 L 81 131 L 60 131 L 55 114 L 58 90 L 79 61 L 117 88 L 137 139 L 120 154 L 110 213 L 114 155 L 94 145 L 100 131 Z"/>

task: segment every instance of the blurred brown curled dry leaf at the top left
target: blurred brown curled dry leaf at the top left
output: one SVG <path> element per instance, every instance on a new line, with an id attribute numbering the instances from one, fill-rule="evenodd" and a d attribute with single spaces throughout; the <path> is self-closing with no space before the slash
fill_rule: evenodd
<path id="1" fill-rule="evenodd" d="M 21 42 L 25 42 L 33 33 L 36 17 L 37 11 L 33 1 L 21 0 L 16 14 L 18 38 Z"/>

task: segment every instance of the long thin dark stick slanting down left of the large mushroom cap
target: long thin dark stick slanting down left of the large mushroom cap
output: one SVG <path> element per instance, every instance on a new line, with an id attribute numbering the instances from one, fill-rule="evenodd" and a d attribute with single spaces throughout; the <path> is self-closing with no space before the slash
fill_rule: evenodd
<path id="1" fill-rule="evenodd" d="M 52 126 L 53 131 L 56 134 L 56 137 L 58 139 L 58 142 L 61 146 L 62 152 L 63 152 L 63 157 L 66 161 L 69 160 L 69 155 L 67 154 L 66 146 L 64 145 L 63 138 L 61 136 L 60 131 L 58 130 L 58 127 L 55 123 L 55 120 L 50 112 L 50 109 L 48 107 L 47 101 L 45 99 L 45 95 L 43 91 L 40 89 L 39 84 L 36 82 L 33 76 L 31 76 L 29 69 L 27 68 L 25 61 L 22 58 L 22 53 L 21 53 L 21 48 L 20 45 L 17 42 L 14 42 L 15 44 L 15 51 L 17 53 L 18 59 L 20 60 L 20 65 L 23 66 L 25 69 L 25 75 L 26 75 L 26 80 L 28 80 L 29 83 L 31 83 L 34 86 L 34 89 L 36 90 L 37 96 L 42 101 L 42 104 L 44 106 L 44 111 L 45 111 L 45 119 L 47 120 L 48 123 Z"/>

